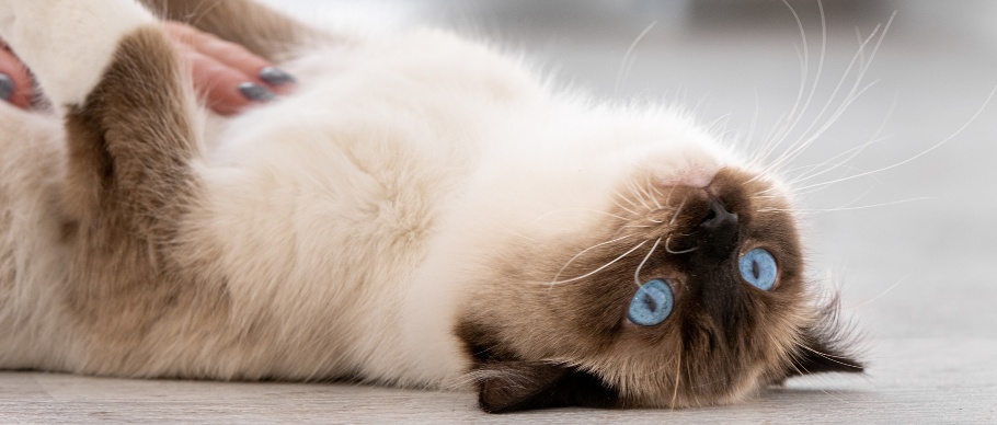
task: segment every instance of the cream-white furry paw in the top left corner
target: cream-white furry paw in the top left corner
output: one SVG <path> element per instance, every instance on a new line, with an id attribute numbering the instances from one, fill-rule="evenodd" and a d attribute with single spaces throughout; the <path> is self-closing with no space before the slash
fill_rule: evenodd
<path id="1" fill-rule="evenodd" d="M 135 0 L 0 1 L 0 38 L 59 106 L 82 103 L 121 39 L 156 22 Z"/>

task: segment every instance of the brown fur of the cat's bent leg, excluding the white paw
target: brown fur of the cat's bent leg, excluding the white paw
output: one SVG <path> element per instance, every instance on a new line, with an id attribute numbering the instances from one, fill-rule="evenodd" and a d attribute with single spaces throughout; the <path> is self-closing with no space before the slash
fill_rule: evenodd
<path id="1" fill-rule="evenodd" d="M 181 218 L 199 196 L 188 165 L 198 136 L 184 84 L 161 32 L 138 30 L 66 117 L 64 228 L 72 254 L 65 309 L 82 326 L 78 334 L 94 338 L 100 361 L 85 367 L 137 369 L 151 356 L 138 347 L 161 319 L 225 315 L 222 287 L 197 282 L 171 254 Z M 156 90 L 136 90 L 149 87 Z"/>

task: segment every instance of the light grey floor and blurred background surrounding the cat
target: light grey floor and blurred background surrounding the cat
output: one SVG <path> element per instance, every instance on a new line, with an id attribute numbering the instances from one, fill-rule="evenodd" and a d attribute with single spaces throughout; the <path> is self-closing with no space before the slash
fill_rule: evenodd
<path id="1" fill-rule="evenodd" d="M 484 35 L 601 96 L 678 100 L 704 123 L 745 137 L 754 123 L 749 146 L 756 149 L 782 126 L 801 82 L 803 42 L 777 0 L 291 3 Z M 735 406 L 496 417 L 479 413 L 473 394 L 461 393 L 0 374 L 0 422 L 997 422 L 997 104 L 981 110 L 997 87 L 997 2 L 828 3 L 824 67 L 787 145 L 813 135 L 812 122 L 815 128 L 828 123 L 843 104 L 844 93 L 832 95 L 836 84 L 844 80 L 847 92 L 872 56 L 872 45 L 856 56 L 859 38 L 897 12 L 862 79 L 874 84 L 787 173 L 792 179 L 882 138 L 845 166 L 797 184 L 809 210 L 812 274 L 844 291 L 848 314 L 866 330 L 868 376 L 794 381 Z M 809 42 L 805 94 L 821 61 L 822 30 L 815 1 L 793 5 Z"/>

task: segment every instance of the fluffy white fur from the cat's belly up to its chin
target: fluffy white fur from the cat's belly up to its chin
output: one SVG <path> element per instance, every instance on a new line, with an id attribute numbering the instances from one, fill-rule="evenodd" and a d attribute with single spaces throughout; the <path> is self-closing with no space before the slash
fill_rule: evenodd
<path id="1" fill-rule="evenodd" d="M 275 345 L 316 347 L 291 364 L 325 357 L 434 387 L 459 378 L 470 365 L 458 306 L 500 246 L 600 218 L 585 211 L 611 205 L 634 168 L 703 186 L 720 168 L 687 119 L 587 111 L 450 34 L 302 56 L 285 65 L 301 76 L 297 95 L 220 130 L 200 168 L 209 205 L 192 225 L 211 243 L 191 246 L 221 253 L 233 300 L 285 329 Z M 702 159 L 648 164 L 663 139 Z"/>

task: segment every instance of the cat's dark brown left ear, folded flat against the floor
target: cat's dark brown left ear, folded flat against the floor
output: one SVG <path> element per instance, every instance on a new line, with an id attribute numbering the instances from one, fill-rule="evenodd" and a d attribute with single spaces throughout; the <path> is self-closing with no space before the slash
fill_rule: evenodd
<path id="1" fill-rule="evenodd" d="M 489 413 L 551 407 L 614 407 L 619 395 L 598 378 L 545 361 L 500 361 L 482 367 L 478 403 Z"/>

